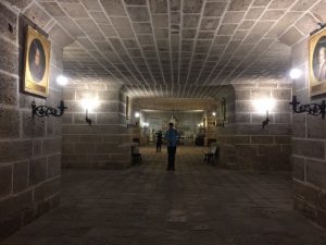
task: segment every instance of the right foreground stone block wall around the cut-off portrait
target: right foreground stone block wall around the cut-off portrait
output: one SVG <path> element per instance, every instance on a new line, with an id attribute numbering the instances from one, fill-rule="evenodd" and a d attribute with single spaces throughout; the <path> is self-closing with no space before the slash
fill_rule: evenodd
<path id="1" fill-rule="evenodd" d="M 292 49 L 292 64 L 303 71 L 293 88 L 301 105 L 325 99 L 309 96 L 308 47 L 306 39 Z M 292 128 L 294 208 L 326 228 L 326 120 L 293 114 Z"/>

